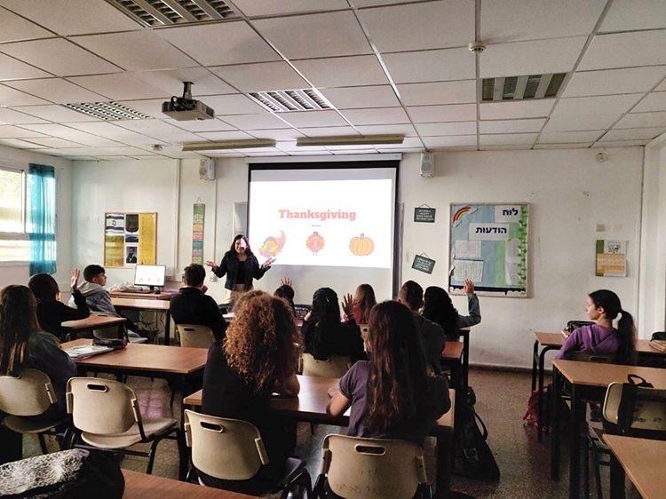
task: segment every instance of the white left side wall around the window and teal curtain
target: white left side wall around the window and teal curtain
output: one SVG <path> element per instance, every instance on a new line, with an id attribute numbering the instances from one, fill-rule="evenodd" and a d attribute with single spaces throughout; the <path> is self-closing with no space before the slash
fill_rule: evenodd
<path id="1" fill-rule="evenodd" d="M 56 233 L 58 257 L 55 279 L 60 289 L 69 289 L 69 274 L 72 259 L 69 242 L 72 231 L 72 162 L 66 159 L 38 154 L 25 149 L 0 146 L 0 164 L 14 168 L 28 169 L 28 163 L 50 164 L 56 173 L 56 214 L 58 226 Z M 8 284 L 27 284 L 29 279 L 28 263 L 20 265 L 0 265 L 0 289 Z"/>

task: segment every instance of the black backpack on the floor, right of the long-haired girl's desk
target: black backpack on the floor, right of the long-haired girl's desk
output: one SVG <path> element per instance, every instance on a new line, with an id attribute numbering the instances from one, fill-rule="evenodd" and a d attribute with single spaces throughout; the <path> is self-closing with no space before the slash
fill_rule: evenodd
<path id="1" fill-rule="evenodd" d="M 456 454 L 454 472 L 472 479 L 497 480 L 500 472 L 488 447 L 488 428 L 474 410 L 476 396 L 471 387 L 456 400 Z"/>

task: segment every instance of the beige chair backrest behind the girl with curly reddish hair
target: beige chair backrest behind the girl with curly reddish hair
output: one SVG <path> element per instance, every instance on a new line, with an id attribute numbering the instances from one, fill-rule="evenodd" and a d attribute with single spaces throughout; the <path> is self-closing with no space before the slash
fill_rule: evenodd
<path id="1" fill-rule="evenodd" d="M 194 467 L 217 479 L 251 479 L 268 464 L 261 434 L 246 421 L 186 409 L 185 438 Z"/>

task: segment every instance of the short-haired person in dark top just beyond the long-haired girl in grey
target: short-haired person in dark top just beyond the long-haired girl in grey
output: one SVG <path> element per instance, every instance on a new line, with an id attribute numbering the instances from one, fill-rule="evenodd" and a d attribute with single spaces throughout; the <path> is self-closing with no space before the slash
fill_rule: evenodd
<path id="1" fill-rule="evenodd" d="M 407 305 L 414 314 L 416 328 L 424 348 L 425 361 L 435 373 L 439 374 L 441 372 L 441 351 L 444 350 L 447 337 L 439 324 L 418 313 L 421 306 L 424 305 L 424 289 L 415 281 L 407 281 L 400 288 L 398 301 Z"/>

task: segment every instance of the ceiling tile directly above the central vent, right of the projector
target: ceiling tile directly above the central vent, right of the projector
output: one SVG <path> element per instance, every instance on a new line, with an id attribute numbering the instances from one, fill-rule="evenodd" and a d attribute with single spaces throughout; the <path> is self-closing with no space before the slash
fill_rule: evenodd
<path id="1" fill-rule="evenodd" d="M 210 70 L 243 92 L 303 89 L 309 86 L 284 61 L 210 67 Z"/>

